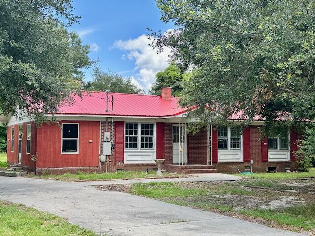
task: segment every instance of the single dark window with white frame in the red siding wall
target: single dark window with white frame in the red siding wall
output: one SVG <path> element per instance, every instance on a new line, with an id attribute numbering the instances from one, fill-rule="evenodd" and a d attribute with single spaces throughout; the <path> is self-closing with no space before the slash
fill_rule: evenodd
<path id="1" fill-rule="evenodd" d="M 62 124 L 62 153 L 63 154 L 79 153 L 79 124 L 74 123 Z"/>

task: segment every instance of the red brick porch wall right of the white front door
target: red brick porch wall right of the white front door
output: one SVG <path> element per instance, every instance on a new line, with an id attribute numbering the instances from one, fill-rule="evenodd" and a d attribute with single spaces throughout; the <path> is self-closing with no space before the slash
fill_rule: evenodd
<path id="1" fill-rule="evenodd" d="M 189 133 L 188 163 L 207 165 L 207 128 L 202 128 L 198 133 Z"/>

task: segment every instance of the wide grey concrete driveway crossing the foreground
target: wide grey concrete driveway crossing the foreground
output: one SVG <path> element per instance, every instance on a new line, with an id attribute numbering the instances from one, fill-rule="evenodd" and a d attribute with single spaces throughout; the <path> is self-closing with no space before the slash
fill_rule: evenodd
<path id="1" fill-rule="evenodd" d="M 112 236 L 302 236 L 212 212 L 104 192 L 84 183 L 0 177 L 0 199 Z"/>

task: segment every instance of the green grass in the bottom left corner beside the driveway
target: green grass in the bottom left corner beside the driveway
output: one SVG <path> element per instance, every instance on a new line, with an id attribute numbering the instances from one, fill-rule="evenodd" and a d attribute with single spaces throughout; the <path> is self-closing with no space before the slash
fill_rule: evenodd
<path id="1" fill-rule="evenodd" d="M 5 236 L 97 236 L 90 230 L 32 207 L 0 201 L 0 235 Z"/>

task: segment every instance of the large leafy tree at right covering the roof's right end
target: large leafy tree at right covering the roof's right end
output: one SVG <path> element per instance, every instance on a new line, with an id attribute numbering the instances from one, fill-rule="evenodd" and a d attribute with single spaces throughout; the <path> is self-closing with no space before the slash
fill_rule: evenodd
<path id="1" fill-rule="evenodd" d="M 314 120 L 314 1 L 157 0 L 157 5 L 161 19 L 176 30 L 153 33 L 154 46 L 170 47 L 181 68 L 193 68 L 184 106 L 208 104 L 216 109 L 200 109 L 203 115 L 224 118 L 242 111 L 249 121 L 256 114 L 267 124 L 287 114 L 290 125 Z"/>

